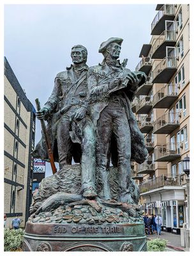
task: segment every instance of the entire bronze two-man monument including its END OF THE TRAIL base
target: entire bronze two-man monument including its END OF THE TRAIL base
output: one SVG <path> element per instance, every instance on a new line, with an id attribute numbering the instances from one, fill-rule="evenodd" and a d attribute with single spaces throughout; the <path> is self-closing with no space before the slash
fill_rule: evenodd
<path id="1" fill-rule="evenodd" d="M 126 68 L 127 59 L 121 63 L 122 42 L 102 42 L 103 60 L 93 67 L 86 47 L 73 46 L 72 63 L 57 74 L 42 108 L 36 99 L 42 138 L 32 156 L 49 161 L 53 175 L 33 194 L 24 251 L 146 250 L 140 193 L 131 179 L 131 161 L 147 157 L 131 111 L 146 75 Z"/>

